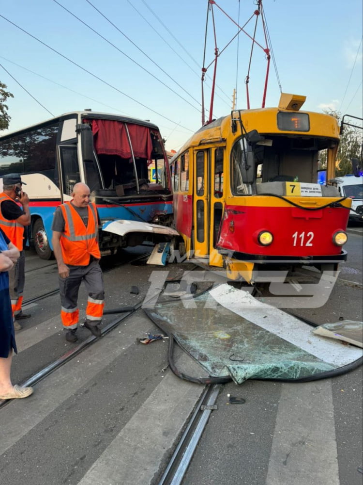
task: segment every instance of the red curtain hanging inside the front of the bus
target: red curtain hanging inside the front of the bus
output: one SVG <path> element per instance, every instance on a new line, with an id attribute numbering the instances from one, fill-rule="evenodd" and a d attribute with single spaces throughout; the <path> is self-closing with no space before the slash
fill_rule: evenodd
<path id="1" fill-rule="evenodd" d="M 94 147 L 97 153 L 119 155 L 131 159 L 125 123 L 112 120 L 91 120 Z M 134 156 L 151 159 L 152 142 L 149 128 L 127 124 Z"/>

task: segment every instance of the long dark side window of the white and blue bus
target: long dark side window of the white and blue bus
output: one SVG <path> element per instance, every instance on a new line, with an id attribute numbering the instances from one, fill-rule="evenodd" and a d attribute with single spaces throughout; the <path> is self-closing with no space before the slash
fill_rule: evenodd
<path id="1" fill-rule="evenodd" d="M 0 141 L 0 177 L 42 174 L 59 187 L 56 141 L 59 124 L 32 129 Z"/>

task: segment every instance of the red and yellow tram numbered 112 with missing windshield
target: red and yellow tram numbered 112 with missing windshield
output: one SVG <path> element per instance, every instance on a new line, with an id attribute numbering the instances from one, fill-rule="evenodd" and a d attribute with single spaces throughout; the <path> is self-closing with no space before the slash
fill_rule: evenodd
<path id="1" fill-rule="evenodd" d="M 335 180 L 339 127 L 331 115 L 300 111 L 304 101 L 283 93 L 278 107 L 233 110 L 180 148 L 170 161 L 181 236 L 173 251 L 252 284 L 266 271 L 335 271 L 347 259 L 351 199 Z"/>

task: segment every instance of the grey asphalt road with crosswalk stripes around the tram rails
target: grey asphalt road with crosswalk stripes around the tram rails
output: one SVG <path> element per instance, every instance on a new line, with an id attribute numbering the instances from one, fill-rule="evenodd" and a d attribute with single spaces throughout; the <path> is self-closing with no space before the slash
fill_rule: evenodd
<path id="1" fill-rule="evenodd" d="M 349 232 L 348 261 L 329 300 L 302 309 L 317 323 L 362 320 L 362 232 Z M 133 306 L 150 290 L 151 273 L 181 277 L 187 264 L 166 267 L 104 262 L 106 308 Z M 54 261 L 31 251 L 25 300 L 55 290 Z M 164 275 L 165 276 L 165 275 Z M 132 291 L 132 286 L 139 293 Z M 86 294 L 81 289 L 81 315 Z M 76 344 L 64 339 L 59 295 L 28 305 L 17 333 L 14 382 L 23 382 Z M 106 315 L 103 327 L 117 315 Z M 160 330 L 142 309 L 35 385 L 34 394 L 0 409 L 0 483 L 6 485 L 157 484 L 202 386 L 169 369 L 167 341 L 137 339 Z M 90 338 L 79 329 L 79 342 Z M 202 372 L 176 349 L 178 365 Z M 229 404 L 227 394 L 244 404 Z M 185 485 L 361 485 L 362 367 L 304 384 L 246 381 L 222 386 Z"/>

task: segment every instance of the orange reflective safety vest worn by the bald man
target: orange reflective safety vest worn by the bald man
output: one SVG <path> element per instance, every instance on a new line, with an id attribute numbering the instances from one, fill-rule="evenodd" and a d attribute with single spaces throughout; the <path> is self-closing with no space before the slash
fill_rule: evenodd
<path id="1" fill-rule="evenodd" d="M 87 227 L 70 202 L 64 202 L 60 207 L 65 221 L 64 232 L 61 234 L 61 250 L 65 264 L 87 266 L 90 256 L 100 259 L 96 206 L 93 203 L 88 205 Z"/>

